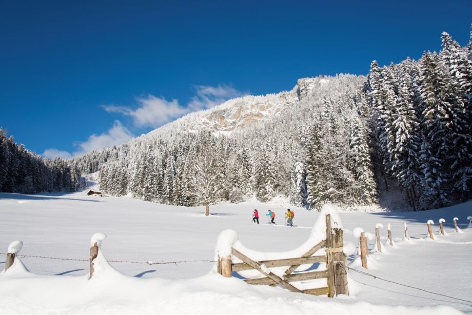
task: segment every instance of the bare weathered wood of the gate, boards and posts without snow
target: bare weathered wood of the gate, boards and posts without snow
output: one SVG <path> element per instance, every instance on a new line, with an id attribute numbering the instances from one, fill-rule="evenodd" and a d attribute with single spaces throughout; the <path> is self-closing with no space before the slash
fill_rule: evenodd
<path id="1" fill-rule="evenodd" d="M 325 248 L 324 255 L 313 256 L 314 253 L 322 248 Z M 242 263 L 232 263 L 231 257 L 220 258 L 218 272 L 225 277 L 231 277 L 233 271 L 238 272 L 255 269 L 265 277 L 245 279 L 244 281 L 246 283 L 270 286 L 280 285 L 291 292 L 314 294 L 317 296 L 327 294 L 328 297 L 333 297 L 335 294 L 349 294 L 347 287 L 347 273 L 344 268 L 346 265 L 346 257 L 343 253 L 343 230 L 340 228 L 331 228 L 330 214 L 326 215 L 326 239 L 314 245 L 301 257 L 254 261 L 234 248 L 231 249 L 231 254 L 239 258 Z M 293 273 L 300 265 L 314 263 L 326 263 L 326 270 Z M 263 267 L 262 265 L 265 266 Z M 284 266 L 286 266 L 287 269 L 282 277 L 279 277 L 277 274 L 268 270 L 270 267 Z M 290 284 L 290 282 L 322 278 L 326 278 L 326 287 L 300 290 Z"/>

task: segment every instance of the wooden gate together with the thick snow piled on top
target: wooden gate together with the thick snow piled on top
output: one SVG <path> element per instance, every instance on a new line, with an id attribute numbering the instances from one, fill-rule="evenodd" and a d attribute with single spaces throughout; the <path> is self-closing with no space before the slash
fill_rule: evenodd
<path id="1" fill-rule="evenodd" d="M 310 237 L 287 252 L 257 252 L 246 248 L 234 230 L 220 233 L 215 249 L 217 270 L 253 285 L 280 285 L 291 292 L 333 297 L 349 294 L 343 230 L 337 211 L 325 205 Z M 251 257 L 251 258 L 249 258 Z M 312 271 L 313 264 L 319 264 Z"/>

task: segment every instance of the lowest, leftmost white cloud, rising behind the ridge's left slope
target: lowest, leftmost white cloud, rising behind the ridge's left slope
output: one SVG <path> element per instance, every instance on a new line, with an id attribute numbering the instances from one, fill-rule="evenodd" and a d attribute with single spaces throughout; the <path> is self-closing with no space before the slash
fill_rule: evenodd
<path id="1" fill-rule="evenodd" d="M 119 121 L 114 121 L 113 127 L 111 127 L 107 132 L 99 135 L 92 134 L 89 136 L 87 141 L 74 143 L 74 146 L 77 147 L 77 150 L 75 150 L 73 153 L 50 148 L 45 150 L 41 155 L 48 157 L 49 159 L 54 159 L 54 157 L 69 159 L 72 156 L 81 155 L 94 149 L 101 149 L 112 145 L 123 144 L 130 141 L 132 137 L 133 135 L 128 130 L 128 128 L 123 126 Z"/>

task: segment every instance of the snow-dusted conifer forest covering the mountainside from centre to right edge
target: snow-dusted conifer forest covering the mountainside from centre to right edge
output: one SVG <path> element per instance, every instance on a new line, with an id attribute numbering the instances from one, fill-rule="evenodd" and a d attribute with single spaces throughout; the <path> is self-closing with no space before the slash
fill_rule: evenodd
<path id="1" fill-rule="evenodd" d="M 375 204 L 394 187 L 412 209 L 462 202 L 472 192 L 472 41 L 461 47 L 447 33 L 441 41 L 418 61 L 373 61 L 366 77 L 299 80 L 267 98 L 286 104 L 255 126 L 214 132 L 192 113 L 69 164 L 100 171 L 106 193 L 182 206 L 284 195 L 319 210 Z"/>

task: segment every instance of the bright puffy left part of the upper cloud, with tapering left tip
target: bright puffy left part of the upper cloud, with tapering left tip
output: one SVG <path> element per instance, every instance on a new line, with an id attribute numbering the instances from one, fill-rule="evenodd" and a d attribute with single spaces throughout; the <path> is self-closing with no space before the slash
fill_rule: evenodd
<path id="1" fill-rule="evenodd" d="M 121 113 L 132 117 L 134 125 L 138 127 L 157 127 L 188 113 L 177 100 L 167 101 L 149 94 L 136 101 L 140 105 L 136 109 L 113 105 L 104 105 L 103 108 L 110 113 Z"/>

